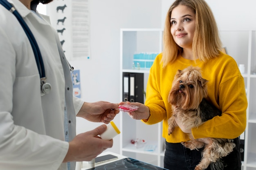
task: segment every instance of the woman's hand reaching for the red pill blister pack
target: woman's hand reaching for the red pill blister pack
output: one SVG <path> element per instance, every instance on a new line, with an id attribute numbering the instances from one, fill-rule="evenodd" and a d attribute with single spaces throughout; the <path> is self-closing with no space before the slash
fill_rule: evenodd
<path id="1" fill-rule="evenodd" d="M 139 107 L 138 110 L 135 110 L 135 111 L 132 111 L 132 112 L 128 113 L 128 115 L 132 119 L 136 119 L 136 120 L 144 119 L 144 120 L 147 120 L 149 118 L 150 111 L 149 111 L 148 106 L 145 106 L 144 104 L 139 103 L 139 102 L 120 102 L 119 105 L 122 105 L 122 104 L 125 104 L 125 103 Z"/>

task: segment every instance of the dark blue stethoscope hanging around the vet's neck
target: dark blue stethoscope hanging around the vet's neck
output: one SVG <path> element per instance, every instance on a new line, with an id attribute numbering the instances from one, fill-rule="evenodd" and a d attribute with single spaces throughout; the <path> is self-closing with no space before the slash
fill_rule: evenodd
<path id="1" fill-rule="evenodd" d="M 49 94 L 52 86 L 51 86 L 51 84 L 46 82 L 47 78 L 45 76 L 45 66 L 43 63 L 43 58 L 40 53 L 36 39 L 34 38 L 34 35 L 32 34 L 31 30 L 27 26 L 26 22 L 22 19 L 22 17 L 18 13 L 18 11 L 7 0 L 0 0 L 0 4 L 2 4 L 7 10 L 9 10 L 11 13 L 13 13 L 13 15 L 16 16 L 16 18 L 20 22 L 20 25 L 24 29 L 24 31 L 29 39 L 29 42 L 31 44 L 31 47 L 33 49 L 34 55 L 35 55 L 36 65 L 37 65 L 38 72 L 40 75 L 41 96 L 43 96 L 45 94 Z M 68 63 L 68 65 L 70 67 L 70 71 L 73 72 L 74 68 L 72 66 L 70 66 L 69 63 Z"/>

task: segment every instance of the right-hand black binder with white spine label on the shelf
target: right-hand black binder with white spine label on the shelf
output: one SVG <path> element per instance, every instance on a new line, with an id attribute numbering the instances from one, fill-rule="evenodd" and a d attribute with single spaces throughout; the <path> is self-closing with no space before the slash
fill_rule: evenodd
<path id="1" fill-rule="evenodd" d="M 130 73 L 130 102 L 144 103 L 144 73 Z"/>

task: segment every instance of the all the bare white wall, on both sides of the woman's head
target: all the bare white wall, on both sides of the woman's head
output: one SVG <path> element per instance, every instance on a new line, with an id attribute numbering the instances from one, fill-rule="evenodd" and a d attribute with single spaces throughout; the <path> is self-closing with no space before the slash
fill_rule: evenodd
<path id="1" fill-rule="evenodd" d="M 220 30 L 256 30 L 256 1 L 206 0 Z M 120 102 L 120 29 L 163 28 L 166 12 L 174 0 L 90 0 L 91 60 L 70 61 L 80 69 L 82 99 Z M 114 119 L 119 126 L 119 116 Z M 97 127 L 77 119 L 77 132 Z M 132 133 L 132 132 L 131 132 Z M 119 136 L 108 151 L 119 153 Z"/>

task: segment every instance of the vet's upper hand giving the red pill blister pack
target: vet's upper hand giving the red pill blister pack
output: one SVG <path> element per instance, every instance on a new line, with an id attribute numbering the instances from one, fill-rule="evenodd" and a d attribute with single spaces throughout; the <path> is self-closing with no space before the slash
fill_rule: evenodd
<path id="1" fill-rule="evenodd" d="M 119 104 L 104 101 L 94 103 L 84 102 L 76 116 L 83 117 L 92 122 L 103 122 L 108 124 L 119 113 L 118 106 Z"/>

